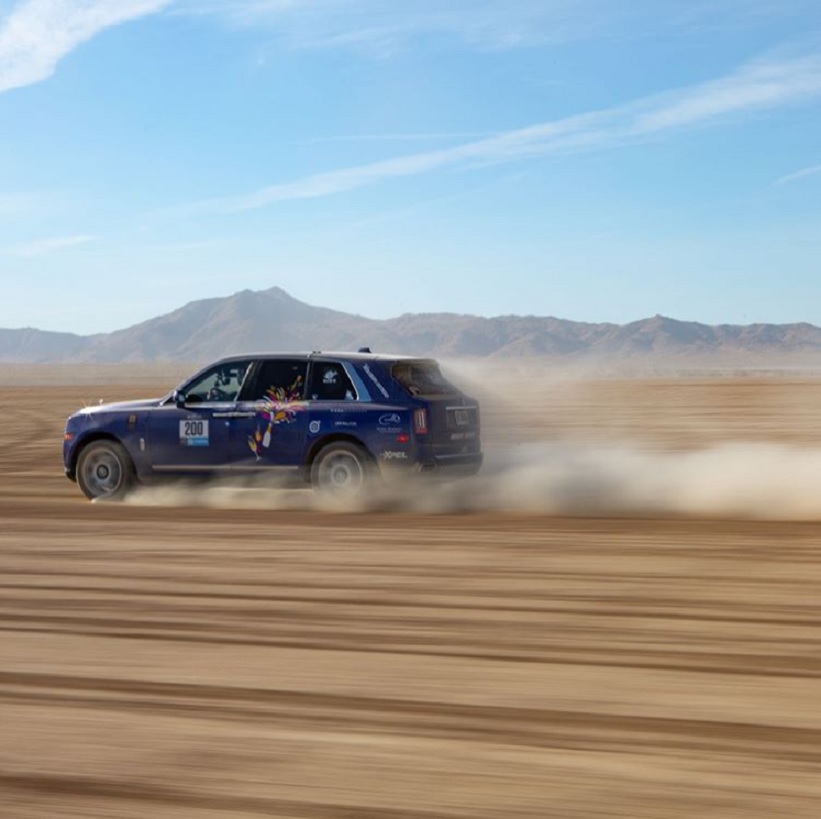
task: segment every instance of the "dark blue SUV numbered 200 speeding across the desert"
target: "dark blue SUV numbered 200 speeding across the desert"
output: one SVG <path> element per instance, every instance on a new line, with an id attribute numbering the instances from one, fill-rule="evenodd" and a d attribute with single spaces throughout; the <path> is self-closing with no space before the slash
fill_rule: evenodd
<path id="1" fill-rule="evenodd" d="M 63 461 L 91 499 L 165 477 L 261 475 L 351 496 L 397 474 L 476 473 L 479 407 L 430 359 L 235 356 L 164 398 L 74 413 Z"/>

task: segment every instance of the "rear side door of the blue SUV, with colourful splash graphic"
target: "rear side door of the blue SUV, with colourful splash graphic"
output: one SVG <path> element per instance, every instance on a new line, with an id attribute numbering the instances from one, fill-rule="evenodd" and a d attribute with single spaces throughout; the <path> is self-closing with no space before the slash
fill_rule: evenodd
<path id="1" fill-rule="evenodd" d="M 235 472 L 290 471 L 302 465 L 308 429 L 304 358 L 259 361 L 235 407 Z"/>

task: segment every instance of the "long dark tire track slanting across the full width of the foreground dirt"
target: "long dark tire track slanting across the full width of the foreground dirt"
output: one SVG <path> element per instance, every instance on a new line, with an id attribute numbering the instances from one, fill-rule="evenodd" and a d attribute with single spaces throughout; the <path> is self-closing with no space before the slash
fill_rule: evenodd
<path id="1" fill-rule="evenodd" d="M 143 683 L 0 673 L 0 701 L 167 712 L 194 719 L 251 720 L 339 731 L 479 740 L 536 748 L 699 751 L 821 763 L 821 729 L 738 722 L 622 717 L 535 708 L 475 707 L 390 698 L 304 694 L 274 689 Z"/>

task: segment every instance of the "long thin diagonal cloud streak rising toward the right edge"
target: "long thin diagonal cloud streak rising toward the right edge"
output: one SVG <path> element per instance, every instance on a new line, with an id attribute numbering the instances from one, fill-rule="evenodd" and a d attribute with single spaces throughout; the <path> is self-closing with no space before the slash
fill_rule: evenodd
<path id="1" fill-rule="evenodd" d="M 821 96 L 821 57 L 759 60 L 717 80 L 436 151 L 313 174 L 248 194 L 214 199 L 195 211 L 230 213 L 314 199 L 388 179 L 457 167 L 511 162 L 568 150 L 611 148 L 665 132 L 705 127 Z"/>

